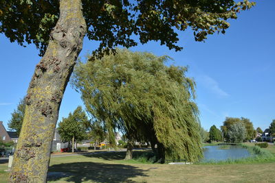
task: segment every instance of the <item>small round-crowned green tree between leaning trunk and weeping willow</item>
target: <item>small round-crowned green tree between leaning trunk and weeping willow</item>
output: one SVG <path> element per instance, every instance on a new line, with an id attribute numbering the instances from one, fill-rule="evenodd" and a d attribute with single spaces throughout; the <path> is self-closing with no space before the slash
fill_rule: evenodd
<path id="1" fill-rule="evenodd" d="M 78 106 L 73 114 L 69 112 L 69 117 L 63 118 L 58 123 L 58 133 L 61 140 L 66 142 L 72 141 L 72 151 L 74 152 L 74 142 L 82 141 L 86 137 L 85 123 L 87 123 L 87 115 L 85 111 Z"/>

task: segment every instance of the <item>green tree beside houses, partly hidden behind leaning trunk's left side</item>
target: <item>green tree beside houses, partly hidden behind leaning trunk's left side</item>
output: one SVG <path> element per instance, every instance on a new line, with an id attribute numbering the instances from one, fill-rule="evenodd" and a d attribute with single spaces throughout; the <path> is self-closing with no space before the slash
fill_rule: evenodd
<path id="1" fill-rule="evenodd" d="M 12 119 L 8 122 L 8 127 L 10 130 L 15 130 L 17 135 L 20 134 L 24 115 L 25 115 L 25 97 L 19 101 L 17 109 L 12 112 Z"/>

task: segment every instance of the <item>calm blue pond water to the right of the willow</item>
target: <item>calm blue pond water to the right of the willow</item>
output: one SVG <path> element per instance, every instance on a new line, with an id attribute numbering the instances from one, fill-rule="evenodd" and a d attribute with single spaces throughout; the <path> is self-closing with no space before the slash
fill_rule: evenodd
<path id="1" fill-rule="evenodd" d="M 250 156 L 250 152 L 247 149 L 235 145 L 230 145 L 230 149 L 219 149 L 219 145 L 206 146 L 204 148 L 204 162 L 209 160 L 221 161 L 227 159 L 239 159 Z"/>

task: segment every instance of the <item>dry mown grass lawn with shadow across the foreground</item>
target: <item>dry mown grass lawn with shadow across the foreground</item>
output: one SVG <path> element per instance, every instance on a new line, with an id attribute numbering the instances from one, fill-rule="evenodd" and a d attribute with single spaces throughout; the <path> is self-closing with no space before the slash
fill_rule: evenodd
<path id="1" fill-rule="evenodd" d="M 274 145 L 268 150 L 275 154 Z M 50 172 L 58 173 L 51 176 L 49 182 L 274 182 L 275 162 L 140 164 L 124 161 L 123 156 L 124 152 L 53 157 Z M 6 167 L 8 164 L 0 164 L 0 182 L 8 179 L 8 173 L 3 171 Z"/>

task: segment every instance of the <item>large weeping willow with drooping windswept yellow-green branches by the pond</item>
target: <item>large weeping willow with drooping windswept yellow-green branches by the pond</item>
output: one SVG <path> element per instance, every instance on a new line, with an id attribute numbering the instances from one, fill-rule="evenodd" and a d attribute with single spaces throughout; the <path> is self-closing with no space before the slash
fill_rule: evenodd
<path id="1" fill-rule="evenodd" d="M 109 132 L 119 129 L 130 142 L 157 144 L 162 161 L 196 161 L 202 152 L 195 83 L 186 77 L 187 67 L 165 66 L 168 59 L 117 49 L 101 60 L 79 62 L 72 84 Z"/>

